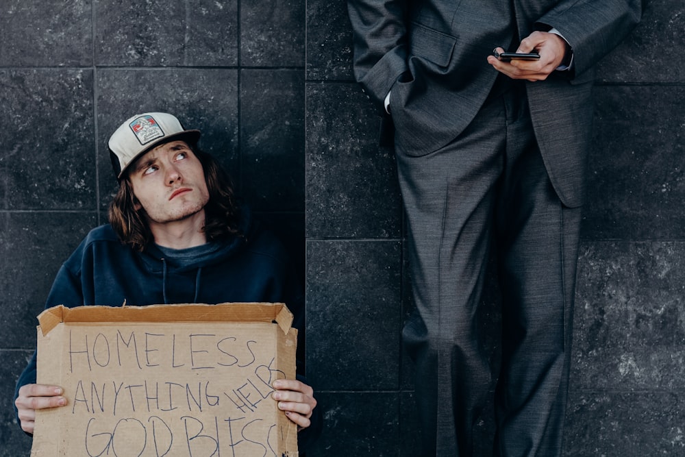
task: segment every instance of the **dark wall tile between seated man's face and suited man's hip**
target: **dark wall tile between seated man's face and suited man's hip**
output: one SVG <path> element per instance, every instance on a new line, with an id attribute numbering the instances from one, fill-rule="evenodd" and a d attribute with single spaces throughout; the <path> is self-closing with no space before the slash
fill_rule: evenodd
<path id="1" fill-rule="evenodd" d="M 395 157 L 377 147 L 379 118 L 356 84 L 307 85 L 310 238 L 398 238 Z"/>

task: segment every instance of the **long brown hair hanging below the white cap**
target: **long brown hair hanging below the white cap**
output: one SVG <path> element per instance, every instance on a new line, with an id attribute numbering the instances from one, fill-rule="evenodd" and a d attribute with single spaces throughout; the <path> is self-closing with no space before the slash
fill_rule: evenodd
<path id="1" fill-rule="evenodd" d="M 229 236 L 241 236 L 240 206 L 233 190 L 233 183 L 219 162 L 196 145 L 189 145 L 192 153 L 202 164 L 210 198 L 206 204 L 205 226 L 207 240 L 221 240 Z M 154 238 L 147 223 L 145 210 L 136 210 L 138 199 L 128 175 L 119 180 L 119 191 L 114 195 L 108 211 L 110 225 L 122 243 L 142 251 Z"/>

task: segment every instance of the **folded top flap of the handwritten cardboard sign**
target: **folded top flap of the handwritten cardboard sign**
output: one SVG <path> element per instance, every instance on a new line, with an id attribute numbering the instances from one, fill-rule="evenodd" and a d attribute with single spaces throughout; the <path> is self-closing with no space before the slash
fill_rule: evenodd
<path id="1" fill-rule="evenodd" d="M 164 313 L 159 312 L 165 308 Z M 173 304 L 148 306 L 53 306 L 38 314 L 43 336 L 60 323 L 101 322 L 275 322 L 285 334 L 292 312 L 282 303 Z"/>

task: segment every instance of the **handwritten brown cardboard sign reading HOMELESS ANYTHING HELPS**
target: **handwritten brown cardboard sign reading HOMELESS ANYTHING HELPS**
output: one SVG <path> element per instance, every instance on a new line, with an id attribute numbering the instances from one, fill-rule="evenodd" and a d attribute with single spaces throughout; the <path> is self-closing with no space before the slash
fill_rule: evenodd
<path id="1" fill-rule="evenodd" d="M 68 404 L 36 412 L 32 456 L 298 455 L 271 397 L 295 379 L 284 304 L 56 306 L 38 320 L 38 384 Z"/>

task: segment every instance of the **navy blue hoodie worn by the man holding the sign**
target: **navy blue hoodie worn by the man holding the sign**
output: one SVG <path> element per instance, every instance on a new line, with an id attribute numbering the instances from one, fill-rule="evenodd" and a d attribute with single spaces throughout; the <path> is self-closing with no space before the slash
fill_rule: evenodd
<path id="1" fill-rule="evenodd" d="M 45 307 L 284 303 L 295 317 L 300 372 L 305 318 L 301 284 L 279 240 L 252 223 L 247 208 L 241 214 L 242 236 L 215 243 L 210 252 L 183 262 L 167 258 L 155 245 L 134 251 L 121 243 L 110 225 L 97 227 L 62 264 Z M 18 379 L 15 399 L 21 386 L 35 382 L 36 354 Z M 320 408 L 315 408 L 312 426 L 299 433 L 300 447 L 320 430 Z"/>

